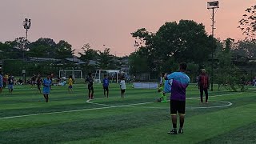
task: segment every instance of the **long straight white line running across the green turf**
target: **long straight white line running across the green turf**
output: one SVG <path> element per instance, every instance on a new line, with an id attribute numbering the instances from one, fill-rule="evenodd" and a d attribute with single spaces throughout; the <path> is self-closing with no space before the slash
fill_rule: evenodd
<path id="1" fill-rule="evenodd" d="M 242 94 L 242 93 L 236 93 L 236 94 Z M 232 95 L 232 94 L 222 94 L 222 95 L 214 95 L 209 97 L 221 97 L 226 95 Z M 187 98 L 187 99 L 195 99 L 195 98 Z M 87 100 L 86 102 L 90 102 L 90 100 Z M 92 103 L 92 102 L 90 102 Z M 39 114 L 25 114 L 25 115 L 16 115 L 16 116 L 10 116 L 10 117 L 2 117 L 0 119 L 10 119 L 10 118 L 23 118 L 23 117 L 30 117 L 30 116 L 37 116 L 37 115 L 47 115 L 47 114 L 62 114 L 62 113 L 71 113 L 71 112 L 78 112 L 78 111 L 86 111 L 86 110 L 102 110 L 102 109 L 110 109 L 110 108 L 116 108 L 116 107 L 126 107 L 126 106 L 138 106 L 138 105 L 145 105 L 149 103 L 154 102 L 142 102 L 142 103 L 135 103 L 135 104 L 128 104 L 128 105 L 119 105 L 119 106 L 106 106 L 106 107 L 98 107 L 98 108 L 90 108 L 90 109 L 79 109 L 79 110 L 64 110 L 64 111 L 55 111 L 50 113 L 39 113 Z M 92 103 L 95 104 L 95 103 Z"/>

